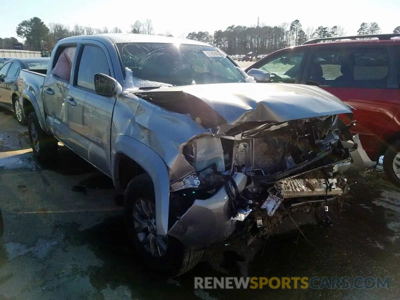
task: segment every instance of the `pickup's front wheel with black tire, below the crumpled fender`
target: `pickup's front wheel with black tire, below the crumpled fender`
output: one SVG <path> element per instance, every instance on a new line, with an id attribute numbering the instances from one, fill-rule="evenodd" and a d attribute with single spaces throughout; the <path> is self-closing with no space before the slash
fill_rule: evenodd
<path id="1" fill-rule="evenodd" d="M 147 266 L 170 276 L 179 276 L 200 262 L 203 250 L 190 250 L 172 236 L 158 236 L 155 196 L 148 174 L 133 178 L 124 195 L 128 239 Z"/>

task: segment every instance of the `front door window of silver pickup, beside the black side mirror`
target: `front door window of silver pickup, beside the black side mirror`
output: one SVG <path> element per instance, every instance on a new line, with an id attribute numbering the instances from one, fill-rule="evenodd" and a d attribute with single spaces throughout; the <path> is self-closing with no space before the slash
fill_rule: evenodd
<path id="1" fill-rule="evenodd" d="M 96 73 L 111 76 L 106 54 L 98 46 L 85 45 L 80 58 L 76 85 L 95 90 L 94 74 Z"/>

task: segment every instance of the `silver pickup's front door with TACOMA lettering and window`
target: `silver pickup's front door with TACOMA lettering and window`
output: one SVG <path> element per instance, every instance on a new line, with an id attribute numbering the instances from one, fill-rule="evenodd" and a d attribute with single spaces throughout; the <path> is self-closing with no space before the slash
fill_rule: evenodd
<path id="1" fill-rule="evenodd" d="M 80 156 L 111 176 L 110 132 L 116 97 L 96 94 L 96 73 L 115 78 L 107 48 L 100 42 L 85 41 L 78 50 L 74 81 L 66 100 L 68 143 Z"/>

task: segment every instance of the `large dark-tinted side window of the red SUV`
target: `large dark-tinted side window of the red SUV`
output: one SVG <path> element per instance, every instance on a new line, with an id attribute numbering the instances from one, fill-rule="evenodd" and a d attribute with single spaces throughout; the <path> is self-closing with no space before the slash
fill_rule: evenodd
<path id="1" fill-rule="evenodd" d="M 342 88 L 386 88 L 388 49 L 329 48 L 312 54 L 307 79 Z"/>

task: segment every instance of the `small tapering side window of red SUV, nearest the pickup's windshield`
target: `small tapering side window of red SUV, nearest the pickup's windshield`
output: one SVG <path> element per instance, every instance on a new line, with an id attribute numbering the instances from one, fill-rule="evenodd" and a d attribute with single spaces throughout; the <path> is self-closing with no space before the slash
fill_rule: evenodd
<path id="1" fill-rule="evenodd" d="M 273 56 L 268 59 L 268 62 L 259 67 L 259 69 L 270 72 L 271 75 L 277 75 L 283 79 L 294 79 L 299 71 L 303 56 L 303 51 L 286 54 L 280 53 L 278 56 Z"/>

